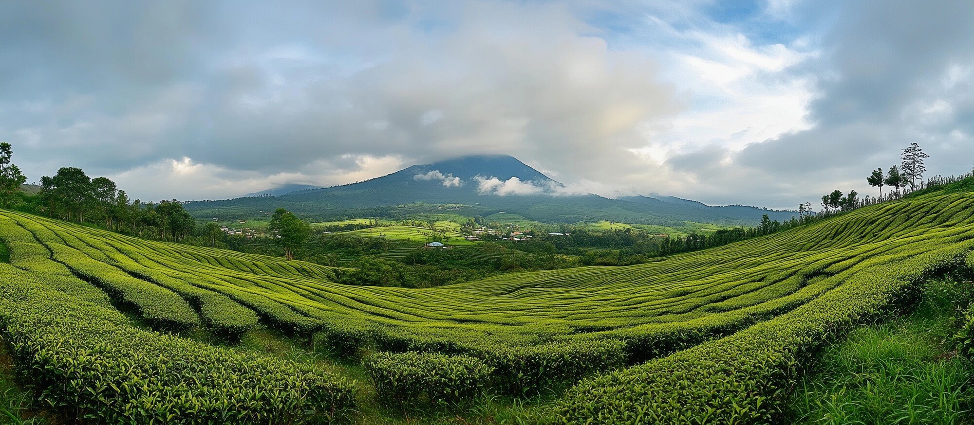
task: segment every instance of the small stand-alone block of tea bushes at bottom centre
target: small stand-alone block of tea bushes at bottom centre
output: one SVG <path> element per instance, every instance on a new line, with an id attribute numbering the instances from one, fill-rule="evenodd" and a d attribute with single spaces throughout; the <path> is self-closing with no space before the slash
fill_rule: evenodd
<path id="1" fill-rule="evenodd" d="M 462 407 L 483 394 L 493 368 L 468 356 L 377 353 L 364 361 L 380 401 L 393 408 Z"/>

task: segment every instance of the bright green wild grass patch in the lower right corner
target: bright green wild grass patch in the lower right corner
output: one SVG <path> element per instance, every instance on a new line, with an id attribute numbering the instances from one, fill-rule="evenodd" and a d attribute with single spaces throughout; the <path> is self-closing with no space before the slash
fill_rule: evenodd
<path id="1" fill-rule="evenodd" d="M 918 310 L 852 332 L 803 379 L 791 421 L 814 424 L 969 423 L 971 365 L 950 343 L 971 283 L 931 282 Z"/>

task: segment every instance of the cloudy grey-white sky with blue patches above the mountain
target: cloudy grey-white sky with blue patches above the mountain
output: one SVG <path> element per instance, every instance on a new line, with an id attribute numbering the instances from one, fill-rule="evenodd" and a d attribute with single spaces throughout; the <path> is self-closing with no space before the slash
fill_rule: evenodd
<path id="1" fill-rule="evenodd" d="M 132 198 L 506 154 L 573 192 L 797 208 L 974 167 L 974 2 L 0 3 L 0 141 Z M 503 182 L 501 182 L 503 183 Z"/>

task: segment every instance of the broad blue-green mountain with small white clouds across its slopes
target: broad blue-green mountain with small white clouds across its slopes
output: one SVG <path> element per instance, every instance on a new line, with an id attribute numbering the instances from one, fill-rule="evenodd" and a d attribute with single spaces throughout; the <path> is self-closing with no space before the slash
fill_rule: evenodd
<path id="1" fill-rule="evenodd" d="M 562 195 L 564 186 L 509 156 L 470 156 L 413 165 L 364 182 L 267 197 L 195 201 L 201 218 L 243 219 L 277 207 L 315 221 L 352 217 L 406 217 L 446 207 L 451 213 L 517 214 L 543 223 L 614 221 L 674 226 L 685 222 L 754 226 L 763 214 L 788 220 L 789 211 L 750 206 L 707 206 L 673 196 Z"/>

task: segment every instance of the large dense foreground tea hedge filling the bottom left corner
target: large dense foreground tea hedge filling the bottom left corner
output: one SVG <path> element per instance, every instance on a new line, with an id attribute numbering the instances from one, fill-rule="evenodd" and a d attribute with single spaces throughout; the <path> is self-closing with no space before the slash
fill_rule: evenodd
<path id="1" fill-rule="evenodd" d="M 353 413 L 355 382 L 138 330 L 42 279 L 0 265 L 0 331 L 36 400 L 66 422 L 296 424 Z"/>

